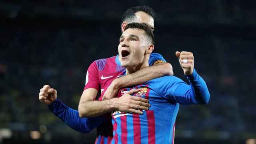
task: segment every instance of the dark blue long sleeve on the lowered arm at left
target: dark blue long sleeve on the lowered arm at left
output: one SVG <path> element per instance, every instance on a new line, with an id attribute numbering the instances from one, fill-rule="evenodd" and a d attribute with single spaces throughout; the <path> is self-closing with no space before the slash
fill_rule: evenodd
<path id="1" fill-rule="evenodd" d="M 48 105 L 48 108 L 58 116 L 58 118 L 68 124 L 70 128 L 82 133 L 90 132 L 92 129 L 100 126 L 100 124 L 106 121 L 103 116 L 80 118 L 77 110 L 69 108 L 58 99 Z"/>

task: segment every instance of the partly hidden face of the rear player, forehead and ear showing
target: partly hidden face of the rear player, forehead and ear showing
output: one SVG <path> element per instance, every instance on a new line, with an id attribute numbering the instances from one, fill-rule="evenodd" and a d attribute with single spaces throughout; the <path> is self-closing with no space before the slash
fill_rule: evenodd
<path id="1" fill-rule="evenodd" d="M 146 23 L 150 28 L 154 31 L 154 19 L 152 16 L 148 15 L 145 12 L 139 11 L 135 13 L 136 19 L 132 22 L 138 22 L 138 23 Z M 127 22 L 123 22 L 122 24 L 122 31 L 124 32 L 124 27 L 127 25 Z"/>

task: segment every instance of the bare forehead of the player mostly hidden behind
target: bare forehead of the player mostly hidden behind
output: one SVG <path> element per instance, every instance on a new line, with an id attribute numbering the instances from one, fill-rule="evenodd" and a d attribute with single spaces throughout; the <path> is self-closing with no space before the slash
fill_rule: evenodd
<path id="1" fill-rule="evenodd" d="M 152 18 L 152 16 L 142 11 L 136 12 L 135 16 L 139 23 L 146 23 L 150 27 L 154 28 L 154 19 Z"/>

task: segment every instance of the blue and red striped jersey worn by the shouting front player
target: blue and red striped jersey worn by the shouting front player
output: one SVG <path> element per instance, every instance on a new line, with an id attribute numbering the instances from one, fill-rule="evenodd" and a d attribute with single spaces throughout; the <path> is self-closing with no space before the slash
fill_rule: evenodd
<path id="1" fill-rule="evenodd" d="M 111 144 L 173 144 L 179 105 L 207 103 L 210 98 L 196 70 L 188 79 L 190 85 L 175 76 L 164 76 L 121 89 L 118 97 L 140 89 L 134 96 L 148 99 L 151 106 L 142 115 L 113 111 Z"/>

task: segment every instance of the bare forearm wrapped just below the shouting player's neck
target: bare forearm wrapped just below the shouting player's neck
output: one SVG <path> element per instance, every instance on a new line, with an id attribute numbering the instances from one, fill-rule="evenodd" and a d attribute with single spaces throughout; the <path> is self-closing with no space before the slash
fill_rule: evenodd
<path id="1" fill-rule="evenodd" d="M 142 68 L 132 74 L 128 74 L 113 81 L 114 88 L 119 89 L 126 86 L 143 84 L 154 78 L 173 75 L 172 65 L 169 63 L 158 63 L 153 66 Z"/>

